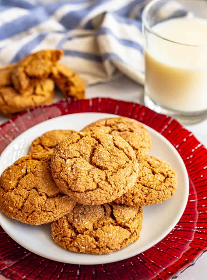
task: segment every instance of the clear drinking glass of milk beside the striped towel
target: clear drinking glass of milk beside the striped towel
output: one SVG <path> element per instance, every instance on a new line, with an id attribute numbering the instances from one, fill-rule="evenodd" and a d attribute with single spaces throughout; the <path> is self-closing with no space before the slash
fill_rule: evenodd
<path id="1" fill-rule="evenodd" d="M 152 1 L 142 30 L 146 106 L 183 123 L 207 118 L 207 1 Z"/>

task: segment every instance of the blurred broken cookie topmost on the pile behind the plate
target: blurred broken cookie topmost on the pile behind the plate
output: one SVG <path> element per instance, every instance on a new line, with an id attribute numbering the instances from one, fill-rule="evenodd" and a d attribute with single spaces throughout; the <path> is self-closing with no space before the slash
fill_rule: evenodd
<path id="1" fill-rule="evenodd" d="M 63 54 L 61 50 L 44 50 L 26 56 L 12 70 L 12 83 L 19 93 L 24 93 L 39 80 L 46 79 Z"/>

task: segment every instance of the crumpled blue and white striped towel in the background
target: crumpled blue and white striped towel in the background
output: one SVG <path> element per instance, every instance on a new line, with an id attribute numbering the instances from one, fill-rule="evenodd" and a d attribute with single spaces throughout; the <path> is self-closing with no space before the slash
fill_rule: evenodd
<path id="1" fill-rule="evenodd" d="M 120 73 L 143 83 L 141 13 L 147 2 L 0 0 L 0 66 L 42 49 L 61 48 L 62 62 L 87 84 Z M 169 13 L 168 5 L 163 7 L 169 17 L 175 9 L 177 5 Z"/>

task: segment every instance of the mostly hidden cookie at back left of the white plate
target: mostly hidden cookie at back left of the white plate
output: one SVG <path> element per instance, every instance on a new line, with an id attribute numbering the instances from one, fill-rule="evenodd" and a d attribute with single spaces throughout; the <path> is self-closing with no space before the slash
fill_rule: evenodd
<path id="1" fill-rule="evenodd" d="M 54 148 L 66 137 L 70 136 L 74 130 L 51 130 L 37 137 L 31 144 L 30 153 L 53 152 Z"/>

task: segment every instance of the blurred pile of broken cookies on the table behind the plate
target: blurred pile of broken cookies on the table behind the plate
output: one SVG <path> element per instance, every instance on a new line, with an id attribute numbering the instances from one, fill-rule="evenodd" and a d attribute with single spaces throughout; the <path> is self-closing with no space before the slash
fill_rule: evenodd
<path id="1" fill-rule="evenodd" d="M 30 54 L 18 64 L 0 68 L 0 114 L 12 114 L 50 104 L 55 84 L 66 96 L 85 98 L 85 84 L 72 69 L 58 62 L 61 50 Z"/>

